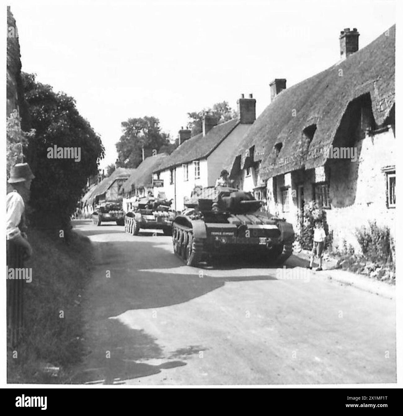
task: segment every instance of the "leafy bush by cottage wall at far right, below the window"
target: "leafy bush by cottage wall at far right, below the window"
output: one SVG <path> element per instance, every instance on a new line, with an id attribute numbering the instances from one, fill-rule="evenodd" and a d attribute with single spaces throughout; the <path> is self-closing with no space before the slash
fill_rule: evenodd
<path id="1" fill-rule="evenodd" d="M 380 227 L 376 221 L 370 221 L 369 227 L 361 227 L 356 231 L 363 257 L 373 262 L 393 261 L 393 239 L 390 229 Z"/>

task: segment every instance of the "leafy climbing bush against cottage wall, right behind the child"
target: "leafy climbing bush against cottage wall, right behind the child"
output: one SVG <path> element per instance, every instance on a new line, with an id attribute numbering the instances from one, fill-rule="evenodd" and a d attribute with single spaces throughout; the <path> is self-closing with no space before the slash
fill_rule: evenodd
<path id="1" fill-rule="evenodd" d="M 297 236 L 301 248 L 311 250 L 313 245 L 313 230 L 315 229 L 315 221 L 321 220 L 323 228 L 326 232 L 325 249 L 331 245 L 333 233 L 329 233 L 328 223 L 326 222 L 326 210 L 317 206 L 313 201 L 306 203 L 303 208 L 303 225 L 300 229 L 300 234 Z"/>

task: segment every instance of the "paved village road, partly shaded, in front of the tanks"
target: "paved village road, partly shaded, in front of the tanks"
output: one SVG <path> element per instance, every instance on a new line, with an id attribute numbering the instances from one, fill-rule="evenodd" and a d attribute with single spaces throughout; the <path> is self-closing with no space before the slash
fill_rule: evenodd
<path id="1" fill-rule="evenodd" d="M 396 382 L 394 300 L 306 275 L 295 256 L 293 280 L 240 261 L 193 268 L 160 232 L 75 228 L 97 247 L 77 383 Z"/>

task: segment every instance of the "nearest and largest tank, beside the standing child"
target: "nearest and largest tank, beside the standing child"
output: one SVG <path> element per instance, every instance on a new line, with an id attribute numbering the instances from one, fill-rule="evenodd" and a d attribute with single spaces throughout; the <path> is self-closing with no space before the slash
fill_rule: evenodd
<path id="1" fill-rule="evenodd" d="M 292 225 L 259 211 L 262 201 L 249 192 L 201 188 L 184 205 L 174 219 L 172 240 L 174 253 L 188 266 L 229 254 L 281 264 L 292 254 Z"/>

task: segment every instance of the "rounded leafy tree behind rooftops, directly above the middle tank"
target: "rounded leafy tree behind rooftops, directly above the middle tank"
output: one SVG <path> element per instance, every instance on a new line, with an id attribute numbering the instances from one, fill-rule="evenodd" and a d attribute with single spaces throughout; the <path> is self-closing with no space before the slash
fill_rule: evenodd
<path id="1" fill-rule="evenodd" d="M 152 116 L 128 119 L 122 122 L 123 134 L 116 144 L 119 166 L 137 168 L 144 158 L 176 147 L 169 134 L 161 131 L 159 119 Z"/>

